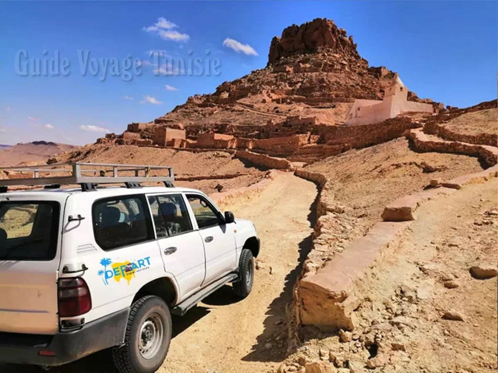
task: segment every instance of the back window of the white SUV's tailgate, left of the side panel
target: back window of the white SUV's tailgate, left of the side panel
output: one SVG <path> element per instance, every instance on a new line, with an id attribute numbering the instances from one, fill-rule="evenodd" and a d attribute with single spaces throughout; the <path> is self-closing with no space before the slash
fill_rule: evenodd
<path id="1" fill-rule="evenodd" d="M 0 202 L 0 260 L 55 258 L 59 202 Z"/>

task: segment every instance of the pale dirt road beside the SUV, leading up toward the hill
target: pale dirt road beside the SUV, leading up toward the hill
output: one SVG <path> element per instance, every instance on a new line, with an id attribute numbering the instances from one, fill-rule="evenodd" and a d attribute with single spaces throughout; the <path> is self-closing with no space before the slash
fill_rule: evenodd
<path id="1" fill-rule="evenodd" d="M 286 349 L 285 306 L 310 249 L 317 187 L 291 173 L 276 179 L 250 202 L 230 206 L 254 222 L 261 239 L 254 286 L 238 301 L 230 286 L 218 290 L 183 317 L 173 318 L 173 340 L 161 373 L 259 373 L 272 371 Z M 3 373 L 36 372 L 1 366 Z M 105 352 L 54 373 L 115 372 Z"/>

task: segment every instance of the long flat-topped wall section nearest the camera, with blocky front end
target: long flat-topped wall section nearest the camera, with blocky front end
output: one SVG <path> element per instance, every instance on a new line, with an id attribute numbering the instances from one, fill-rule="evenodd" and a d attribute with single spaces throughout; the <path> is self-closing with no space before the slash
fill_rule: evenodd
<path id="1" fill-rule="evenodd" d="M 379 222 L 344 253 L 305 276 L 298 284 L 301 306 L 298 317 L 304 325 L 331 330 L 354 329 L 353 311 L 368 294 L 372 269 L 391 251 L 408 222 Z"/>

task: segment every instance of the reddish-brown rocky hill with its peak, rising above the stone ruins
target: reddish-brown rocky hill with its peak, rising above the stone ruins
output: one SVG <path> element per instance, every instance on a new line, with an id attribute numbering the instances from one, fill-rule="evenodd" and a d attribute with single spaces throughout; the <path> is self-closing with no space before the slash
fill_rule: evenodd
<path id="1" fill-rule="evenodd" d="M 332 20 L 289 26 L 271 40 L 265 68 L 224 82 L 215 93 L 191 96 L 153 124 L 181 123 L 192 139 L 204 132 L 247 134 L 292 115 L 343 124 L 356 98 L 382 99 L 395 78 L 385 67 L 369 67 L 356 48 L 353 36 Z M 412 92 L 408 100 L 432 102 Z M 142 138 L 152 135 L 148 127 Z"/>

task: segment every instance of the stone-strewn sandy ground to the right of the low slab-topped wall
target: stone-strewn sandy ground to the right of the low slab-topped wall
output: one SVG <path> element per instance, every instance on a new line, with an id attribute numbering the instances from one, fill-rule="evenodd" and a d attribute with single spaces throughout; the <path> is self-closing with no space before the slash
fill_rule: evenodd
<path id="1" fill-rule="evenodd" d="M 304 328 L 307 342 L 286 364 L 320 360 L 322 351 L 342 372 L 369 372 L 367 364 L 386 373 L 496 372 L 497 277 L 469 272 L 496 268 L 496 209 L 496 179 L 423 204 L 370 284 L 353 340 Z M 448 311 L 463 321 L 446 319 Z"/>

